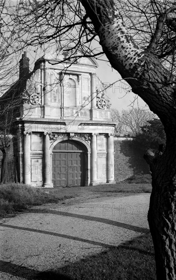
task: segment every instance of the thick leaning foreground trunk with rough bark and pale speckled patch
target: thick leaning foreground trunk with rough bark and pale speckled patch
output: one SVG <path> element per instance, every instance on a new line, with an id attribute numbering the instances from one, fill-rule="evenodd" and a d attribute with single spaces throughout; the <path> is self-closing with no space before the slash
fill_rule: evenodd
<path id="1" fill-rule="evenodd" d="M 176 77 L 138 47 L 113 0 L 80 0 L 111 66 L 158 115 L 166 133 L 164 153 L 146 155 L 152 171 L 149 226 L 158 280 L 176 280 Z"/>

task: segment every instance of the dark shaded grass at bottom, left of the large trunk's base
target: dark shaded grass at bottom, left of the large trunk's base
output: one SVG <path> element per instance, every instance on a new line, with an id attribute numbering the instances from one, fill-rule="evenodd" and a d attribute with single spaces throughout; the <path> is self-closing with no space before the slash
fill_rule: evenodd
<path id="1" fill-rule="evenodd" d="M 141 235 L 100 254 L 54 271 L 42 272 L 37 279 L 154 280 L 155 258 L 151 235 Z"/>

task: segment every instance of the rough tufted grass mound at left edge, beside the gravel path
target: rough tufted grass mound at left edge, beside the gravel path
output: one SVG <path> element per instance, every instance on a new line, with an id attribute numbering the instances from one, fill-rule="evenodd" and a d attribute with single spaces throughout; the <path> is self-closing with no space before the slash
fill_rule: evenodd
<path id="1" fill-rule="evenodd" d="M 24 184 L 0 185 L 0 217 L 22 211 L 33 205 L 56 203 L 70 198 L 63 193 L 54 193 L 41 188 L 34 188 Z"/>

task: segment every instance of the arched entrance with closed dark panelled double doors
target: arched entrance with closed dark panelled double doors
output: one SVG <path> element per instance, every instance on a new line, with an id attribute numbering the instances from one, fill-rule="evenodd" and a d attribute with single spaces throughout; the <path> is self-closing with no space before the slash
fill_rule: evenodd
<path id="1" fill-rule="evenodd" d="M 53 186 L 85 185 L 85 149 L 75 141 L 57 143 L 52 155 Z"/>

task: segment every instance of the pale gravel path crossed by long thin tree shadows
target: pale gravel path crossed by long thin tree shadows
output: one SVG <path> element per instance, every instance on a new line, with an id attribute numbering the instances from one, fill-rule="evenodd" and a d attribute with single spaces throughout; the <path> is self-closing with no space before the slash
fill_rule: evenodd
<path id="1" fill-rule="evenodd" d="M 63 267 L 149 232 L 149 199 L 150 193 L 76 203 L 72 199 L 0 220 L 0 278 L 33 279 L 39 271 Z"/>

